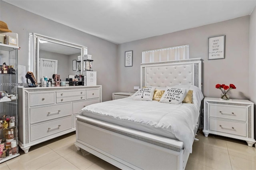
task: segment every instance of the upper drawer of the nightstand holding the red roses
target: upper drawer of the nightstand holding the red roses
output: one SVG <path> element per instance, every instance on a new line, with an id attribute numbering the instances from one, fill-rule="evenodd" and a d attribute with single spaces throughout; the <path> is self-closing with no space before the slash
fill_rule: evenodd
<path id="1" fill-rule="evenodd" d="M 210 105 L 210 117 L 220 117 L 238 121 L 246 121 L 245 107 L 230 107 L 220 105 Z"/>

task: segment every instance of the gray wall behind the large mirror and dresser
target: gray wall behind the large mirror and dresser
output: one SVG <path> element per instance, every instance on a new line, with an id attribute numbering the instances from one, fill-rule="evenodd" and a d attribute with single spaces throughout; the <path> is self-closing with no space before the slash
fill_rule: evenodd
<path id="1" fill-rule="evenodd" d="M 118 89 L 116 44 L 32 14 L 3 1 L 0 1 L 0 16 L 0 20 L 6 22 L 8 28 L 19 35 L 21 49 L 18 51 L 18 64 L 25 65 L 28 69 L 30 32 L 84 45 L 88 47 L 88 54 L 91 54 L 94 59 L 93 67 L 97 71 L 97 84 L 102 85 L 102 101 L 112 99 L 112 93 Z"/>

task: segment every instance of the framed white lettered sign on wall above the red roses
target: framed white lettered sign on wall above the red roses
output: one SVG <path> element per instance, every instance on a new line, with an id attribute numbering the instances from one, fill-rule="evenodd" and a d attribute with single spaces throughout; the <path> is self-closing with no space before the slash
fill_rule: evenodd
<path id="1" fill-rule="evenodd" d="M 225 36 L 208 38 L 208 59 L 225 58 Z"/>

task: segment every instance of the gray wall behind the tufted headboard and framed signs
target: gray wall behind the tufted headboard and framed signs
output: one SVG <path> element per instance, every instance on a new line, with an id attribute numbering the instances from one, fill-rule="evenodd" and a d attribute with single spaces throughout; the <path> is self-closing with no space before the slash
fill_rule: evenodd
<path id="1" fill-rule="evenodd" d="M 220 97 L 217 83 L 234 84 L 231 98 L 248 99 L 250 16 L 191 28 L 118 45 L 119 91 L 140 85 L 142 51 L 189 44 L 190 58 L 202 58 L 202 90 L 205 97 Z M 208 60 L 208 37 L 226 35 L 225 59 Z M 133 50 L 133 66 L 124 67 L 124 52 Z M 254 72 L 255 73 L 255 72 Z"/>

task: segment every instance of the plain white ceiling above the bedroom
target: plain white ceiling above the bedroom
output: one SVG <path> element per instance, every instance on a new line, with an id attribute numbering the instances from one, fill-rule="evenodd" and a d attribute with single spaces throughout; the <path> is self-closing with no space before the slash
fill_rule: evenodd
<path id="1" fill-rule="evenodd" d="M 3 0 L 120 44 L 250 15 L 256 0 Z"/>

